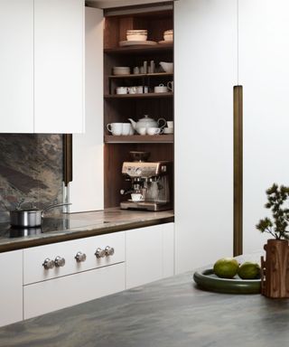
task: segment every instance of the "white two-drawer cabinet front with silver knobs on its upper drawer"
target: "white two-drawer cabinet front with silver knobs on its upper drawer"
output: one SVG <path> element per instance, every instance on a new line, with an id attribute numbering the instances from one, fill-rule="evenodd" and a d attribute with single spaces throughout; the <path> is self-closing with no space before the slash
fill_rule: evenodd
<path id="1" fill-rule="evenodd" d="M 113 254 L 102 253 L 106 249 L 113 249 Z M 86 259 L 78 262 L 78 253 Z M 64 266 L 43 267 L 45 259 L 55 261 L 57 257 L 65 259 Z M 24 319 L 124 290 L 124 261 L 122 231 L 24 249 Z"/>

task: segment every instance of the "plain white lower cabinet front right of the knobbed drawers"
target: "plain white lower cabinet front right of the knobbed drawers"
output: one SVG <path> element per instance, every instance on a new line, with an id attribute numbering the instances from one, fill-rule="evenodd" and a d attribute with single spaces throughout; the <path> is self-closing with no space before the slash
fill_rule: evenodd
<path id="1" fill-rule="evenodd" d="M 126 231 L 126 288 L 174 274 L 174 224 Z"/>

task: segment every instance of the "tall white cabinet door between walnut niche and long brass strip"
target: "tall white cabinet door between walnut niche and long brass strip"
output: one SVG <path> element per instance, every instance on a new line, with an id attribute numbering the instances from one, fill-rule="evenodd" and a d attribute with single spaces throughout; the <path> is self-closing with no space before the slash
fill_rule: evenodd
<path id="1" fill-rule="evenodd" d="M 174 10 L 176 273 L 233 253 L 237 0 Z"/>

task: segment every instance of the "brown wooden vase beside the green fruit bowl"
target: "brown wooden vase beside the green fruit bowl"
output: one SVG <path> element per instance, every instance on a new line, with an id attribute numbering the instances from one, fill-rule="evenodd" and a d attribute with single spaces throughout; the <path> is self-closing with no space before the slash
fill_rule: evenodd
<path id="1" fill-rule="evenodd" d="M 289 297 L 289 244 L 286 239 L 268 239 L 261 257 L 261 294 Z"/>

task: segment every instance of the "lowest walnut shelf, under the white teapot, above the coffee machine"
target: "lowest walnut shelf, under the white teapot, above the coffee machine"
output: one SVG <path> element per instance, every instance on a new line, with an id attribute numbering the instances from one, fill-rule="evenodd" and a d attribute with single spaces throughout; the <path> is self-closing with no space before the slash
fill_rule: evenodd
<path id="1" fill-rule="evenodd" d="M 105 135 L 106 144 L 173 144 L 173 134 L 169 135 Z"/>

